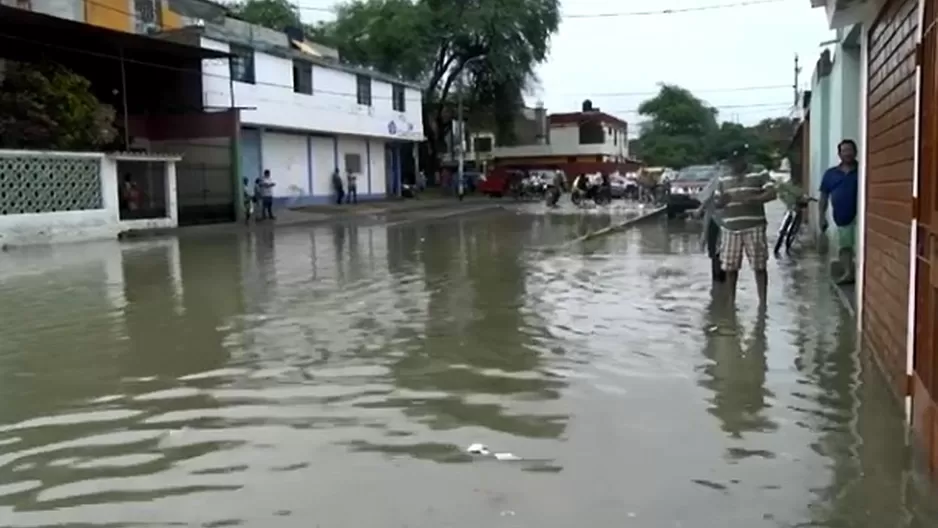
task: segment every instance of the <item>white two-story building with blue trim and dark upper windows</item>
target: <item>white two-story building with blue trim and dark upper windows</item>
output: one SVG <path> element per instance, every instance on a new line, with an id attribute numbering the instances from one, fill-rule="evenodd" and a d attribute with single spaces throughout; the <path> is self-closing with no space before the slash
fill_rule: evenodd
<path id="1" fill-rule="evenodd" d="M 357 176 L 359 199 L 400 192 L 401 166 L 423 140 L 419 86 L 345 65 L 336 52 L 225 19 L 199 28 L 203 48 L 232 54 L 202 64 L 207 109 L 240 109 L 240 174 L 269 170 L 283 205 L 335 199 L 332 175 Z"/>

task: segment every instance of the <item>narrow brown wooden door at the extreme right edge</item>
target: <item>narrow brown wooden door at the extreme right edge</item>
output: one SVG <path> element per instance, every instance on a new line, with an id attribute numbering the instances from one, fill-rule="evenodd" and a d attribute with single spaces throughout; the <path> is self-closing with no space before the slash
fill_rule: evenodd
<path id="1" fill-rule="evenodd" d="M 924 33 L 919 49 L 922 67 L 920 98 L 919 186 L 915 295 L 915 357 L 912 377 L 912 428 L 929 468 L 938 474 L 938 0 L 926 0 Z"/>

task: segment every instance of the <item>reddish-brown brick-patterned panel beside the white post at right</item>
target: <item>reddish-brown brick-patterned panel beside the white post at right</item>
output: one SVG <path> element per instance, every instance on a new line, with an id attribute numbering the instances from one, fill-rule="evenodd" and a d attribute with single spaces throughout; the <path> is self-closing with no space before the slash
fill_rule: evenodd
<path id="1" fill-rule="evenodd" d="M 889 0 L 869 31 L 863 344 L 906 393 L 915 155 L 916 0 Z"/>

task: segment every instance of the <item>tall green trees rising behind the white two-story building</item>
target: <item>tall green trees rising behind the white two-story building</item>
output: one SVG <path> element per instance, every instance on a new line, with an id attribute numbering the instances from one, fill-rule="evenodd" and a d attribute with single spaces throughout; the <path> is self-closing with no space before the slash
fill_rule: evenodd
<path id="1" fill-rule="evenodd" d="M 244 0 L 233 13 L 273 29 L 299 20 L 287 0 Z M 492 115 L 498 140 L 512 142 L 523 95 L 559 24 L 559 0 L 349 0 L 336 6 L 335 20 L 305 29 L 346 62 L 424 87 L 432 160 L 461 80 L 474 114 Z"/>

